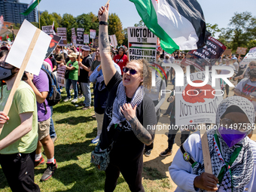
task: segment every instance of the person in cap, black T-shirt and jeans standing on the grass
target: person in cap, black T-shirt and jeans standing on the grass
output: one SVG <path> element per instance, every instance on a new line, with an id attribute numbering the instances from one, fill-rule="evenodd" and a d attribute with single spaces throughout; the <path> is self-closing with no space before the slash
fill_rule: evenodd
<path id="1" fill-rule="evenodd" d="M 90 108 L 91 105 L 89 72 L 90 67 L 93 64 L 93 59 L 90 56 L 90 47 L 88 45 L 84 45 L 83 47 L 81 47 L 81 51 L 84 59 L 82 60 L 82 62 L 78 62 L 78 66 L 80 67 L 79 81 L 81 82 L 81 87 L 84 93 L 84 108 L 82 109 L 87 110 Z"/>

